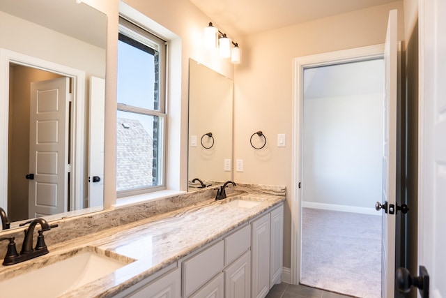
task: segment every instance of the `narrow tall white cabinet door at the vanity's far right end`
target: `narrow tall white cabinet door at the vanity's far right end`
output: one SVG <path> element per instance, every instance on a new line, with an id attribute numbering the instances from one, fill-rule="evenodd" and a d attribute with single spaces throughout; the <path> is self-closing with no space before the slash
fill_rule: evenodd
<path id="1" fill-rule="evenodd" d="M 271 211 L 270 288 L 282 281 L 284 246 L 284 205 Z"/>

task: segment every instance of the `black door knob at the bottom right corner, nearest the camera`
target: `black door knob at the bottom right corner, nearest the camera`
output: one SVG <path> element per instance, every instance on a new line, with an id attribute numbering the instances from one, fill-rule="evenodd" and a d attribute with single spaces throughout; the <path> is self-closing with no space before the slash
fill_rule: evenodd
<path id="1" fill-rule="evenodd" d="M 406 268 L 398 268 L 395 272 L 399 292 L 408 293 L 411 287 L 420 289 L 422 298 L 429 298 L 429 274 L 426 267 L 420 266 L 420 276 L 412 277 Z"/>

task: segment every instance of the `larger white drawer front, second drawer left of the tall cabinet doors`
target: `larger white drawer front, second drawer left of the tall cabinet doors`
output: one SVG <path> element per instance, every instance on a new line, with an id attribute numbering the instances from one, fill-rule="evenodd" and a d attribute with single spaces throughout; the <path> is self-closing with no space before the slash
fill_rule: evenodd
<path id="1" fill-rule="evenodd" d="M 223 241 L 219 241 L 183 262 L 183 297 L 188 297 L 222 271 L 223 255 L 224 244 Z"/>

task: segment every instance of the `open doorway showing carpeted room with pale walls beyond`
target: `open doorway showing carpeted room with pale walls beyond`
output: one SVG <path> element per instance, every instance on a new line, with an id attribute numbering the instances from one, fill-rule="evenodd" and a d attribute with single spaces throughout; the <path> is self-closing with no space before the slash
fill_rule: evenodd
<path id="1" fill-rule="evenodd" d="M 380 296 L 384 61 L 303 70 L 300 283 Z"/>

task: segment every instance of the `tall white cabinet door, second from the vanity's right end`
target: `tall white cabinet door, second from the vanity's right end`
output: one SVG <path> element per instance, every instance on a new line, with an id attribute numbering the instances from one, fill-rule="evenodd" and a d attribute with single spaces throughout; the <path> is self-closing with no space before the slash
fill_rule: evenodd
<path id="1" fill-rule="evenodd" d="M 263 298 L 270 290 L 270 214 L 251 223 L 252 297 Z"/>

